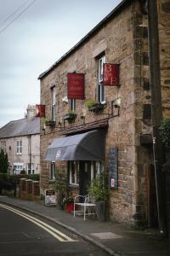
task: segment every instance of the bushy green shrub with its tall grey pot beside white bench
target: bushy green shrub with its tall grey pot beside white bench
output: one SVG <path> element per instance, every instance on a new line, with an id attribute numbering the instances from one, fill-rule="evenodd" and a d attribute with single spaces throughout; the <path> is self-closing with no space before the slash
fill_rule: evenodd
<path id="1" fill-rule="evenodd" d="M 96 204 L 96 212 L 99 220 L 106 219 L 106 201 L 109 196 L 109 189 L 107 183 L 107 175 L 105 172 L 100 173 L 95 177 L 88 188 L 89 195 L 92 195 Z"/>

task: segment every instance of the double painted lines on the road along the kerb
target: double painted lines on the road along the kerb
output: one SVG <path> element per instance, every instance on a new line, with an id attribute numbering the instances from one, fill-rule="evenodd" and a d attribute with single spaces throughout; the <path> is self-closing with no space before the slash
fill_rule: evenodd
<path id="1" fill-rule="evenodd" d="M 37 226 L 41 227 L 43 230 L 46 230 L 50 235 L 54 236 L 59 241 L 76 241 L 76 240 L 71 239 L 71 237 L 66 236 L 65 234 L 61 233 L 59 230 L 54 229 L 52 226 L 50 226 L 46 223 L 43 223 L 38 218 L 34 218 L 31 215 L 26 214 L 25 212 L 20 212 L 19 210 L 16 210 L 13 207 L 8 207 L 3 204 L 0 204 L 0 207 L 3 207 L 5 209 L 7 209 L 8 211 L 14 212 L 14 213 L 20 215 L 21 217 L 30 220 L 32 223 L 37 224 Z"/>

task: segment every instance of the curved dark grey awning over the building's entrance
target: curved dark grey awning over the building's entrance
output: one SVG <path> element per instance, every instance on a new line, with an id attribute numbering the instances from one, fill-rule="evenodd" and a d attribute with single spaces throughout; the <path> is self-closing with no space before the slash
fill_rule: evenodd
<path id="1" fill-rule="evenodd" d="M 105 131 L 94 130 L 60 137 L 48 146 L 45 160 L 104 160 Z"/>

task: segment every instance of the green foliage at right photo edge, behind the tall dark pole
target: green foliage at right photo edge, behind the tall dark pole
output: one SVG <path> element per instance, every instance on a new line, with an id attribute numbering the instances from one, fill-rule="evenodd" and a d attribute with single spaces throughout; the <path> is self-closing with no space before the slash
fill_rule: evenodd
<path id="1" fill-rule="evenodd" d="M 170 149 L 170 119 L 162 120 L 159 131 L 165 148 Z"/>

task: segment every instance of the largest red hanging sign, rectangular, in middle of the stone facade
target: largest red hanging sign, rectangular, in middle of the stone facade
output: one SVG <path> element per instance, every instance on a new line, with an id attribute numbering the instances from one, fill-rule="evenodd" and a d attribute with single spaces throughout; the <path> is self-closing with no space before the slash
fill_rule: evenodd
<path id="1" fill-rule="evenodd" d="M 68 73 L 68 99 L 84 99 L 84 73 Z"/>

